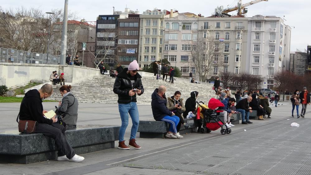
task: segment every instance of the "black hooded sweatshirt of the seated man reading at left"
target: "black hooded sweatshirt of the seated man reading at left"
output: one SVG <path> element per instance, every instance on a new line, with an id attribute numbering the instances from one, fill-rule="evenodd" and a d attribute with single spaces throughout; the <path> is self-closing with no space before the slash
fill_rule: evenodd
<path id="1" fill-rule="evenodd" d="M 52 124 L 52 119 L 47 119 L 43 116 L 43 106 L 40 93 L 37 89 L 26 92 L 21 109 L 19 112 L 20 120 L 32 120 L 38 123 Z"/>

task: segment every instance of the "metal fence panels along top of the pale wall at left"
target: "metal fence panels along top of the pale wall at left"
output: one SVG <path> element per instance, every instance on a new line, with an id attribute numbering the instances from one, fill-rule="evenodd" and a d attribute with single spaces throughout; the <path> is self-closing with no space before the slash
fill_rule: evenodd
<path id="1" fill-rule="evenodd" d="M 0 62 L 2 63 L 29 63 L 29 64 L 59 64 L 59 56 L 28 52 L 24 50 L 0 48 Z"/>

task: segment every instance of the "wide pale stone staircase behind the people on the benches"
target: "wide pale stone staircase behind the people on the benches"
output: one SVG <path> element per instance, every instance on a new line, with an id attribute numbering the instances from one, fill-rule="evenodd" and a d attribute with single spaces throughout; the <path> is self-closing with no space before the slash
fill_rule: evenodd
<path id="1" fill-rule="evenodd" d="M 81 83 L 72 85 L 71 91 L 78 99 L 79 102 L 85 103 L 117 103 L 118 96 L 113 92 L 113 84 L 115 78 L 108 77 L 107 75 L 98 75 L 89 80 L 84 80 Z M 142 83 L 144 86 L 144 94 L 137 96 L 138 104 L 151 104 L 151 94 L 155 88 L 160 85 L 167 87 L 166 97 L 174 95 L 175 91 L 181 92 L 181 97 L 186 102 L 186 99 L 190 97 L 190 92 L 198 91 L 199 95 L 197 100 L 207 103 L 210 98 L 214 97 L 214 90 L 212 90 L 212 84 L 201 85 L 195 83 L 174 82 L 168 83 L 161 80 L 153 79 L 152 77 L 143 77 Z M 59 93 L 59 87 L 53 85 L 54 93 L 49 99 L 61 100 L 62 97 Z"/>

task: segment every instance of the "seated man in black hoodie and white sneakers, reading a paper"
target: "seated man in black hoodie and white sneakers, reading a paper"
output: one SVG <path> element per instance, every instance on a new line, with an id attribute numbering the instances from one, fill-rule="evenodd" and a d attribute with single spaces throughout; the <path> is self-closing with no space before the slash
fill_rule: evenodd
<path id="1" fill-rule="evenodd" d="M 43 85 L 39 91 L 36 89 L 28 91 L 21 102 L 19 119 L 37 121 L 35 132 L 42 133 L 55 140 L 58 148 L 57 160 L 81 162 L 84 157 L 75 154 L 65 138 L 66 128 L 55 123 L 57 118 L 48 119 L 44 116 L 47 111 L 43 110 L 42 100 L 50 97 L 52 93 L 53 87 L 50 84 Z"/>

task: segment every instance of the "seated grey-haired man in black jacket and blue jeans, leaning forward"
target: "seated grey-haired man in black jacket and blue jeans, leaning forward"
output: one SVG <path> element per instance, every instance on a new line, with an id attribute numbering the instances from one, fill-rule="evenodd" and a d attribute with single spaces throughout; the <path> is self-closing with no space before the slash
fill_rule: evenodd
<path id="1" fill-rule="evenodd" d="M 249 113 L 252 112 L 252 108 L 249 107 L 249 102 L 252 101 L 252 97 L 247 97 L 238 102 L 235 106 L 237 108 L 236 111 L 241 113 L 242 116 L 242 124 L 251 124 L 253 122 L 249 121 Z M 246 113 L 246 121 L 245 121 L 245 113 Z"/>

